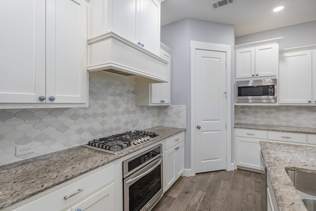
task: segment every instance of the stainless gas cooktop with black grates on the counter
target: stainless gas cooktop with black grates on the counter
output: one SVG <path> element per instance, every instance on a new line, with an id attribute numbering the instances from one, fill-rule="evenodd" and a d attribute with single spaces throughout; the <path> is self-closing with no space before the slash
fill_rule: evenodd
<path id="1" fill-rule="evenodd" d="M 155 132 L 135 130 L 99 139 L 93 139 L 83 146 L 103 152 L 118 154 L 158 137 L 160 136 L 158 136 Z"/>

